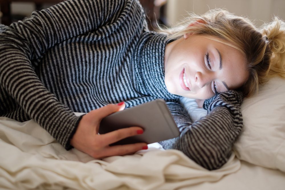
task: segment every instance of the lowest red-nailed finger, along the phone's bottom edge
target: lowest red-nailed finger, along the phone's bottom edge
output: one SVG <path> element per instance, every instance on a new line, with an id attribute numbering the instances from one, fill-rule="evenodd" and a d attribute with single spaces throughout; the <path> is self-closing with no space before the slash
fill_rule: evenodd
<path id="1" fill-rule="evenodd" d="M 139 150 L 147 149 L 146 143 L 135 143 L 135 144 L 125 144 L 125 145 L 117 145 L 110 146 L 105 148 L 104 155 L 97 158 L 104 158 L 108 156 L 123 156 L 126 154 L 134 154 Z M 99 152 L 97 156 L 101 155 Z"/>

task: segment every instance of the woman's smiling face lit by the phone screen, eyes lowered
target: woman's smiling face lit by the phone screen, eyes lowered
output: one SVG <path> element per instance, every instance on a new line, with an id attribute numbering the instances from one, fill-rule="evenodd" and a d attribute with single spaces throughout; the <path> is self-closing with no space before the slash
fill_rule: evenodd
<path id="1" fill-rule="evenodd" d="M 243 54 L 217 37 L 184 35 L 166 45 L 165 84 L 172 94 L 207 99 L 245 83 L 249 73 Z"/>

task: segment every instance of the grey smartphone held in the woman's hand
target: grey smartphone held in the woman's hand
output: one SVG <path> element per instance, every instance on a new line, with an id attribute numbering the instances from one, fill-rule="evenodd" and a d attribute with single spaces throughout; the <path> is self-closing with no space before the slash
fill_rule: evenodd
<path id="1" fill-rule="evenodd" d="M 156 99 L 138 106 L 118 111 L 103 118 L 99 134 L 120 128 L 139 126 L 144 133 L 131 136 L 111 145 L 145 142 L 151 144 L 179 136 L 178 127 L 163 99 Z"/>

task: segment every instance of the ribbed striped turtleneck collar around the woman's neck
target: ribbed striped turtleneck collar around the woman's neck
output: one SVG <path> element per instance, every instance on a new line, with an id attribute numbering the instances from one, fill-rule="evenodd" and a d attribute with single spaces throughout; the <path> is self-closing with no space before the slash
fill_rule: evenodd
<path id="1" fill-rule="evenodd" d="M 164 51 L 168 43 L 166 34 L 145 32 L 135 51 L 135 88 L 146 96 L 178 99 L 168 92 L 164 83 Z"/>

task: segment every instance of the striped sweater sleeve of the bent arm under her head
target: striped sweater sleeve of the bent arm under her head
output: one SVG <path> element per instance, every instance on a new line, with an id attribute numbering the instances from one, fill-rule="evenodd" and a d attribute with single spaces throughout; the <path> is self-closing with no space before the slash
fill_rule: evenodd
<path id="1" fill-rule="evenodd" d="M 208 114 L 191 124 L 179 103 L 168 103 L 180 136 L 160 142 L 165 149 L 181 150 L 206 169 L 223 166 L 231 155 L 233 143 L 243 127 L 240 105 L 243 96 L 236 91 L 216 95 Z"/>

